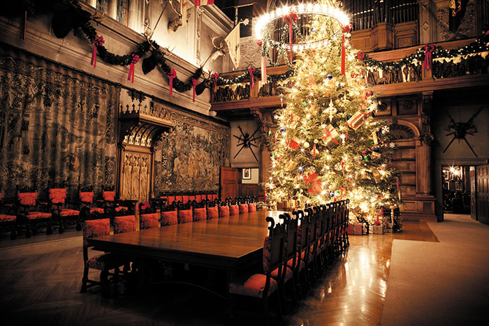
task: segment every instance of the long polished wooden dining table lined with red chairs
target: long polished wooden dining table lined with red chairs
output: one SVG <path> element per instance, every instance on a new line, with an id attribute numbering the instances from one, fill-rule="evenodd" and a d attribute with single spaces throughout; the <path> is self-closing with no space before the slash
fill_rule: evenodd
<path id="1" fill-rule="evenodd" d="M 282 212 L 253 212 L 106 235 L 87 239 L 87 242 L 95 250 L 141 260 L 166 260 L 223 269 L 227 272 L 228 284 L 240 269 L 262 261 L 263 239 L 268 235 L 269 225 L 265 218 L 271 216 L 277 223 L 279 214 Z M 227 293 L 221 296 L 226 297 Z"/>

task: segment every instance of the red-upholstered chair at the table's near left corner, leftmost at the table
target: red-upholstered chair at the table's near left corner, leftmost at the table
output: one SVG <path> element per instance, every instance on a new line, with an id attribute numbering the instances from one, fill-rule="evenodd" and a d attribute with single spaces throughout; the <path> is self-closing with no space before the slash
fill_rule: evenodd
<path id="1" fill-rule="evenodd" d="M 88 249 L 90 248 L 87 239 L 92 237 L 101 237 L 110 234 L 110 219 L 102 218 L 98 220 L 85 221 L 83 225 L 83 277 L 82 288 L 80 292 L 87 292 L 87 288 L 92 286 L 101 286 L 102 297 L 110 297 L 109 276 L 117 276 L 119 267 L 129 264 L 126 257 L 114 253 L 101 253 L 88 257 Z M 100 281 L 94 281 L 88 278 L 89 269 L 98 269 L 100 273 Z M 110 270 L 117 269 L 117 272 L 110 273 Z"/>

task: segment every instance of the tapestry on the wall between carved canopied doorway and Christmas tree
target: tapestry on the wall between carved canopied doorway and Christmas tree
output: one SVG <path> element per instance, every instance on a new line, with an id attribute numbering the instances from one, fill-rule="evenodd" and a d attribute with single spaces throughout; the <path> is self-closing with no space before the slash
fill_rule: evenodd
<path id="1" fill-rule="evenodd" d="M 175 126 L 163 133 L 157 147 L 161 161 L 155 162 L 154 193 L 218 191 L 219 170 L 229 164 L 229 128 L 158 103 L 154 106 Z"/>

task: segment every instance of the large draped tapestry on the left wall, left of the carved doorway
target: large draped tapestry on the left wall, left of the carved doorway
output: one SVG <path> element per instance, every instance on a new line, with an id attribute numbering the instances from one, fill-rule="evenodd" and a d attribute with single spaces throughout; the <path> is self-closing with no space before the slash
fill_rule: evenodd
<path id="1" fill-rule="evenodd" d="M 0 45 L 0 186 L 44 191 L 115 184 L 119 89 Z"/>

